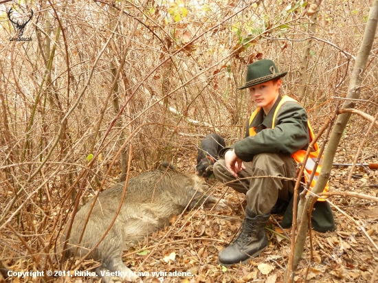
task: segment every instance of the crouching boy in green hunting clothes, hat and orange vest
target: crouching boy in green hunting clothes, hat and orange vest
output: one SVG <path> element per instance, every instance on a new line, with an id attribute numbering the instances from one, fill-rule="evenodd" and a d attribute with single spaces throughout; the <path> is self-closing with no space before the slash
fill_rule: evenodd
<path id="1" fill-rule="evenodd" d="M 224 159 L 214 163 L 216 179 L 224 183 L 232 181 L 227 185 L 245 194 L 247 199 L 241 233 L 219 253 L 219 263 L 224 266 L 245 263 L 260 255 L 268 245 L 265 226 L 271 213 L 286 210 L 281 225 L 291 226 L 295 181 L 280 177 L 296 179 L 296 167 L 303 161 L 313 132 L 302 105 L 287 95 L 280 95 L 280 78 L 286 74 L 278 71 L 272 60 L 248 65 L 246 82 L 240 89 L 248 89 L 257 109 L 247 120 L 245 138 L 225 148 L 221 152 Z M 314 148 L 306 163 L 305 181 L 318 157 L 318 145 Z M 320 166 L 310 188 L 315 185 Z M 322 200 L 316 204 L 313 229 L 334 230 L 329 203 Z"/>

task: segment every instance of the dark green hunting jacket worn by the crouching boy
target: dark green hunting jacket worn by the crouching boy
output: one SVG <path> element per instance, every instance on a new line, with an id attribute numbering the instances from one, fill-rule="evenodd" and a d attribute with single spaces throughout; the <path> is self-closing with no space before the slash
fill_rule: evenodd
<path id="1" fill-rule="evenodd" d="M 274 129 L 271 128 L 274 112 L 281 99 L 282 97 L 279 96 L 266 117 L 264 117 L 264 110 L 260 109 L 250 125 L 248 119 L 245 138 L 228 148 L 224 148 L 221 155 L 224 155 L 224 152 L 227 150 L 234 148 L 238 158 L 249 162 L 252 161 L 254 155 L 264 152 L 292 155 L 298 150 L 307 150 L 310 141 L 307 113 L 299 103 L 285 102 L 282 104 L 276 115 Z M 253 137 L 249 136 L 249 128 L 251 127 L 256 127 L 256 135 Z M 317 201 L 314 208 L 311 221 L 313 229 L 320 232 L 335 230 L 335 220 L 329 203 Z M 293 198 L 291 198 L 282 218 L 281 227 L 289 228 L 292 218 Z"/>

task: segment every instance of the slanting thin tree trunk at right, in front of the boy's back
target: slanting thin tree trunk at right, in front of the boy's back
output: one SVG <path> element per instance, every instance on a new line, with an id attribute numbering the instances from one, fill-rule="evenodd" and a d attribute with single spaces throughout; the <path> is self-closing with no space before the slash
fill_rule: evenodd
<path id="1" fill-rule="evenodd" d="M 368 21 L 366 23 L 366 28 L 364 32 L 364 38 L 362 39 L 362 44 L 359 48 L 359 52 L 357 53 L 357 58 L 355 60 L 355 67 L 353 69 L 353 73 L 351 76 L 351 80 L 349 82 L 348 87 L 348 94 L 346 98 L 357 99 L 360 95 L 361 83 L 364 75 L 364 71 L 366 68 L 366 64 L 368 62 L 368 56 L 370 54 L 370 50 L 373 46 L 375 33 L 377 30 L 377 22 L 378 22 L 378 0 L 373 0 L 372 8 L 370 8 Z M 342 106 L 343 109 L 346 108 L 353 108 L 353 102 L 351 100 L 346 100 Z M 320 172 L 320 177 L 313 189 L 315 194 L 318 194 L 324 190 L 327 181 L 329 180 L 329 176 L 331 173 L 333 157 L 335 157 L 335 152 L 337 150 L 337 146 L 340 142 L 342 137 L 342 133 L 344 132 L 344 128 L 348 123 L 349 117 L 351 113 L 344 113 L 337 117 L 335 127 L 331 133 L 331 137 L 329 139 L 329 144 L 326 147 L 324 152 L 324 159 L 322 163 L 322 170 Z M 307 196 L 306 200 L 301 201 L 300 205 L 304 205 L 304 210 L 308 211 L 311 201 L 313 200 L 313 196 Z M 304 203 L 305 202 L 305 203 Z M 300 223 L 302 222 L 302 225 Z M 294 251 L 294 262 L 293 262 L 293 271 L 296 270 L 298 266 L 298 262 L 302 258 L 302 253 L 304 249 L 304 244 L 306 242 L 307 237 L 307 223 L 308 218 L 307 214 L 305 213 L 302 219 L 299 219 L 298 215 L 298 227 L 302 227 L 300 231 L 298 231 L 298 238 L 296 239 L 296 249 Z M 292 282 L 293 274 L 291 274 L 287 278 L 287 282 Z"/>

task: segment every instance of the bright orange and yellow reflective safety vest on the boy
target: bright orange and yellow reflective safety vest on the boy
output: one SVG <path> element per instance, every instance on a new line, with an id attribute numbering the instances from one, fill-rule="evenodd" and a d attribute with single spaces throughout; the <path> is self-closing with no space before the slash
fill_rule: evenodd
<path id="1" fill-rule="evenodd" d="M 289 102 L 289 101 L 290 102 L 296 102 L 296 103 L 300 104 L 300 102 L 296 101 L 295 99 L 289 98 L 289 96 L 287 96 L 287 95 L 283 95 L 281 101 L 278 103 L 278 105 L 276 107 L 276 111 L 274 111 L 273 122 L 271 124 L 272 129 L 275 126 L 274 124 L 276 122 L 276 115 L 278 113 L 278 110 L 280 109 L 280 106 L 282 106 L 282 104 L 284 104 L 285 102 Z M 257 115 L 258 111 L 260 111 L 260 109 L 261 109 L 261 107 L 258 107 L 258 109 L 256 109 L 254 111 L 254 113 L 252 113 L 251 117 L 249 118 L 249 125 L 252 124 L 254 117 L 256 117 L 256 115 Z M 307 126 L 309 127 L 309 133 L 310 133 L 310 138 L 311 138 L 310 142 L 311 142 L 311 141 L 313 141 L 313 138 L 315 137 L 315 135 L 313 134 L 313 130 L 311 128 L 309 120 L 307 120 Z M 256 135 L 255 129 L 256 129 L 256 127 L 250 127 L 249 128 L 249 136 L 253 137 L 254 135 Z M 304 170 L 303 174 L 304 174 L 304 181 L 306 183 L 309 180 L 309 178 L 310 178 L 310 176 L 313 172 L 313 167 L 315 166 L 315 161 L 319 156 L 318 144 L 315 143 L 313 148 L 314 148 L 315 151 L 310 152 L 309 158 L 307 159 L 306 164 L 304 166 L 305 170 Z M 302 163 L 305 155 L 306 155 L 306 150 L 298 150 L 297 152 L 294 152 L 291 155 L 291 157 L 293 157 L 293 159 L 299 164 L 299 163 Z M 323 156 L 319 160 L 318 168 L 316 168 L 316 172 L 315 172 L 315 175 L 313 176 L 313 179 L 311 181 L 309 190 L 312 190 L 315 187 L 316 181 L 318 181 L 320 170 L 322 169 L 322 161 L 323 161 Z M 327 182 L 326 188 L 324 188 L 323 192 L 328 192 L 328 190 L 329 190 L 329 185 L 328 185 L 328 182 Z M 318 199 L 318 201 L 324 201 L 324 199 Z"/>

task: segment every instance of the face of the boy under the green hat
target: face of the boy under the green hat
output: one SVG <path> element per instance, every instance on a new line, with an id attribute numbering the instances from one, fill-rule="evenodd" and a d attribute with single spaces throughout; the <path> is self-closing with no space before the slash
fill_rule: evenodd
<path id="1" fill-rule="evenodd" d="M 281 85 L 282 80 L 280 79 L 276 82 L 268 80 L 267 82 L 249 87 L 249 94 L 256 103 L 256 106 L 263 107 L 265 114 L 267 114 L 271 107 L 273 107 L 274 102 L 276 102 L 278 95 L 280 95 L 279 90 Z"/>

